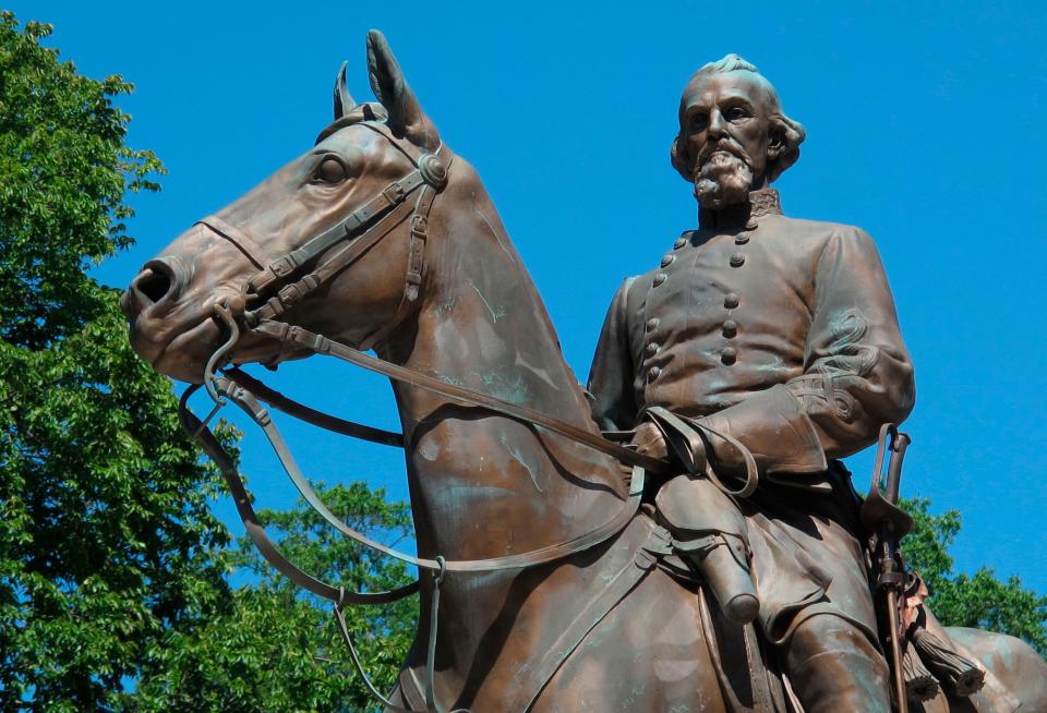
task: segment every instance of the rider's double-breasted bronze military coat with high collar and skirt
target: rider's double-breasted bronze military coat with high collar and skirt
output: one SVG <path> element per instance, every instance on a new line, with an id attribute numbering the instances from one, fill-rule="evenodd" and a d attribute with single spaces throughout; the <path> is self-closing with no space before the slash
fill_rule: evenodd
<path id="1" fill-rule="evenodd" d="M 615 294 L 589 390 L 604 430 L 633 428 L 660 406 L 754 454 L 761 484 L 739 508 L 769 639 L 822 611 L 874 636 L 855 499 L 833 459 L 900 423 L 915 387 L 865 232 L 787 218 L 773 190 L 703 213 Z M 709 446 L 721 467 L 737 461 L 723 442 Z"/>

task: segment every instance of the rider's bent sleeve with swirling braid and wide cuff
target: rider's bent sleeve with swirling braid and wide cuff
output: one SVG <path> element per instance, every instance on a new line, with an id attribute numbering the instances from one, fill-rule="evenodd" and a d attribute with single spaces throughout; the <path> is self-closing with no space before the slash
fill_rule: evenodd
<path id="1" fill-rule="evenodd" d="M 839 229 L 818 261 L 804 362 L 803 375 L 701 423 L 745 444 L 768 473 L 815 473 L 908 415 L 913 366 L 876 246 L 856 228 Z M 717 458 L 736 461 L 717 440 Z"/>

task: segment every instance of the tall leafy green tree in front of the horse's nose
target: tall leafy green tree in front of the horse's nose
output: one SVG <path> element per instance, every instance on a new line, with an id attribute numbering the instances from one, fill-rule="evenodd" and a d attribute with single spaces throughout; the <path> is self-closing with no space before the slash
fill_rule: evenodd
<path id="1" fill-rule="evenodd" d="M 116 292 L 84 274 L 130 244 L 118 76 L 80 76 L 0 13 L 0 709 L 106 709 L 171 626 L 228 597 L 216 473 L 169 384 L 128 347 Z"/>

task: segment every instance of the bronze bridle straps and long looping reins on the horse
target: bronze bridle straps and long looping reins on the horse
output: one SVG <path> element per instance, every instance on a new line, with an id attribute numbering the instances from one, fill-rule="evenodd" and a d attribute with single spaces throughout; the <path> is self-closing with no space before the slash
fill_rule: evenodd
<path id="1" fill-rule="evenodd" d="M 392 711 L 411 713 L 408 709 L 396 705 L 382 696 L 366 676 L 360 662 L 357 649 L 349 635 L 344 615 L 344 607 L 349 604 L 383 604 L 395 602 L 419 590 L 419 582 L 388 592 L 347 592 L 341 587 L 335 587 L 299 569 L 288 560 L 265 533 L 251 498 L 248 495 L 243 479 L 237 469 L 234 459 L 222 447 L 221 443 L 208 428 L 208 422 L 217 411 L 232 401 L 240 407 L 265 433 L 270 445 L 288 476 L 302 497 L 326 520 L 332 527 L 346 536 L 363 544 L 366 547 L 401 561 L 417 566 L 432 572 L 432 601 L 430 616 L 429 649 L 426 652 L 425 701 L 433 713 L 441 709 L 435 701 L 434 668 L 437 636 L 437 619 L 440 611 L 441 584 L 448 572 L 491 572 L 498 570 L 514 570 L 534 567 L 563 559 L 570 555 L 590 549 L 622 532 L 639 510 L 643 494 L 645 472 L 664 470 L 665 463 L 650 456 L 609 440 L 595 433 L 580 428 L 574 424 L 554 419 L 533 409 L 508 403 L 486 394 L 455 386 L 428 374 L 400 366 L 376 356 L 364 353 L 372 345 L 388 334 L 388 330 L 402 318 L 409 305 L 414 303 L 420 294 L 423 277 L 423 261 L 425 243 L 429 239 L 429 214 L 436 196 L 447 184 L 448 170 L 454 161 L 449 152 L 443 147 L 432 153 L 422 152 L 409 142 L 397 137 L 381 122 L 353 122 L 366 126 L 371 131 L 384 136 L 408 159 L 413 169 L 402 178 L 386 185 L 378 194 L 353 209 L 347 218 L 338 225 L 304 241 L 300 246 L 287 252 L 275 261 L 265 263 L 261 259 L 263 252 L 245 231 L 225 220 L 208 216 L 200 220 L 221 238 L 231 242 L 242 252 L 251 263 L 258 268 L 244 285 L 241 294 L 218 300 L 214 305 L 214 316 L 228 331 L 228 339 L 215 350 L 208 359 L 204 370 L 203 385 L 191 386 L 179 401 L 179 420 L 182 427 L 200 444 L 204 451 L 220 469 L 226 484 L 232 494 L 237 511 L 243 520 L 244 527 L 254 545 L 265 559 L 278 571 L 286 575 L 303 589 L 330 600 L 335 604 L 335 616 L 338 621 L 342 639 L 349 649 L 353 665 L 364 680 L 365 686 L 383 705 Z M 417 193 L 413 202 L 409 198 Z M 389 235 L 406 219 L 410 219 L 410 245 L 408 250 L 407 270 L 404 294 L 397 307 L 396 316 L 388 325 L 368 336 L 357 348 L 347 347 L 330 340 L 323 335 L 314 334 L 301 327 L 280 322 L 281 316 L 291 306 L 300 303 L 305 297 L 328 283 L 341 271 L 360 259 L 371 249 Z M 345 244 L 341 244 L 345 243 Z M 326 259 L 320 257 L 334 250 Z M 314 264 L 315 263 L 315 264 Z M 252 304 L 260 303 L 254 309 Z M 309 407 L 302 406 L 266 387 L 264 384 L 243 373 L 239 368 L 224 368 L 232 350 L 244 334 L 267 337 L 277 341 L 284 349 L 294 349 L 318 354 L 328 354 L 342 361 L 356 364 L 362 368 L 382 374 L 393 380 L 408 386 L 420 388 L 444 398 L 479 407 L 500 413 L 527 424 L 531 428 L 550 431 L 578 444 L 609 455 L 618 461 L 633 466 L 628 496 L 619 510 L 609 521 L 593 528 L 566 542 L 544 547 L 488 559 L 447 560 L 443 556 L 435 558 L 416 557 L 392 547 L 387 547 L 365 534 L 350 528 L 334 512 L 310 486 L 308 480 L 291 456 L 287 444 L 269 418 L 268 411 L 261 406 L 260 399 L 290 415 L 301 419 L 313 425 L 362 438 L 373 443 L 393 446 L 404 446 L 400 434 L 381 431 L 344 421 L 330 416 Z M 277 356 L 277 360 L 279 355 Z M 203 386 L 215 402 L 214 409 L 204 419 L 198 419 L 188 406 L 189 398 Z M 746 467 L 748 480 L 755 484 L 756 463 L 751 455 L 736 439 L 715 434 L 725 438 L 731 445 L 747 456 Z M 453 712 L 454 713 L 454 712 Z"/>

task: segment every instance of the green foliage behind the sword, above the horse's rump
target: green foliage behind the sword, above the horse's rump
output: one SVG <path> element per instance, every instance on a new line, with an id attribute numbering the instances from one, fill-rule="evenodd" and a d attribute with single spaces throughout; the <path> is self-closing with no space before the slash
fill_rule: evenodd
<path id="1" fill-rule="evenodd" d="M 953 572 L 948 549 L 960 532 L 960 513 L 930 513 L 930 501 L 904 503 L 916 527 L 902 541 L 910 565 L 927 582 L 930 608 L 947 626 L 975 627 L 1020 637 L 1047 655 L 1047 596 L 1007 581 L 983 567 L 972 575 Z"/>

